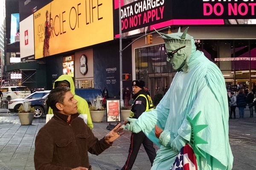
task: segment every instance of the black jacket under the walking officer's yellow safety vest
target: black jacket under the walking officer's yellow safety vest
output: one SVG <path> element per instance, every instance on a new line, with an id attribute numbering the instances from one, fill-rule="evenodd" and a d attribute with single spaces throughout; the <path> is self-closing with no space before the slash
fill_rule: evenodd
<path id="1" fill-rule="evenodd" d="M 146 98 L 139 96 L 139 95 L 145 95 L 147 96 L 147 92 L 145 92 L 144 89 L 141 89 L 139 92 L 137 92 L 134 96 L 134 104 L 131 107 L 131 112 L 134 113 L 132 118 L 139 118 L 140 115 L 146 111 L 147 107 L 147 100 Z M 139 97 L 138 97 L 139 96 Z M 138 97 L 138 98 L 137 98 Z"/>

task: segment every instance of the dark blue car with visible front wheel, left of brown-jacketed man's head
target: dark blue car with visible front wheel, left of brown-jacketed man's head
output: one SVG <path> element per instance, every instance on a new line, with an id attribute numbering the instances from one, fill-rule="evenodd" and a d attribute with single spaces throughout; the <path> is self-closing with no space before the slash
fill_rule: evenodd
<path id="1" fill-rule="evenodd" d="M 30 102 L 30 106 L 35 108 L 34 118 L 41 118 L 42 115 L 47 114 L 48 107 L 47 107 L 47 104 L 45 103 L 45 100 L 48 95 L 49 95 L 49 93 L 47 95 L 44 95 L 44 97 L 42 97 L 42 98 L 27 100 Z"/>

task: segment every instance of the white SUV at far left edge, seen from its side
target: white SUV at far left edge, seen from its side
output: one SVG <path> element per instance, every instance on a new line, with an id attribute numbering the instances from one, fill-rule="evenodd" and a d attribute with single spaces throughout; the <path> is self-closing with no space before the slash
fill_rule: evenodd
<path id="1" fill-rule="evenodd" d="M 27 86 L 5 86 L 1 87 L 0 90 L 3 92 L 2 99 L 6 99 L 8 101 L 15 98 L 25 98 L 31 94 Z"/>

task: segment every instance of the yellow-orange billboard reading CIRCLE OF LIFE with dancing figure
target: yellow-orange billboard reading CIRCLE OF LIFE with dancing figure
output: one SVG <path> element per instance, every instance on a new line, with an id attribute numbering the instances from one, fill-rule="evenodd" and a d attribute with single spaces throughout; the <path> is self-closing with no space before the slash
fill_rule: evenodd
<path id="1" fill-rule="evenodd" d="M 113 40 L 113 2 L 54 0 L 34 13 L 34 32 L 35 59 Z"/>

